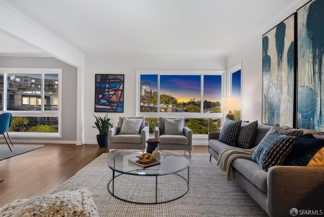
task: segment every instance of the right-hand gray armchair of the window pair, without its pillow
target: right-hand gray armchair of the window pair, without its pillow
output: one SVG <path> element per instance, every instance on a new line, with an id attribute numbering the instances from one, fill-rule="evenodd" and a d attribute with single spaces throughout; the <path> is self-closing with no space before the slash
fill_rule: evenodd
<path id="1" fill-rule="evenodd" d="M 178 119 L 178 118 L 168 118 Z M 185 125 L 183 127 L 183 134 L 181 135 L 170 135 L 165 134 L 165 118 L 160 117 L 158 122 L 155 124 L 155 138 L 161 139 L 158 143 L 160 150 L 184 150 L 189 152 L 191 158 L 192 150 L 192 131 Z"/>

